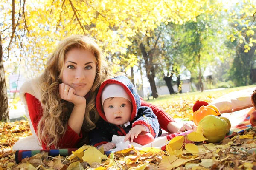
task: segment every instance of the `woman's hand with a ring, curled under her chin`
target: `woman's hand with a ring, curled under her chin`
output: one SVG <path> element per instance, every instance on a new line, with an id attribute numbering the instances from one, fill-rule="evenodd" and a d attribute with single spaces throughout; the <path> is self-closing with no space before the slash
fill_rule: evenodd
<path id="1" fill-rule="evenodd" d="M 59 84 L 60 97 L 63 100 L 73 103 L 75 106 L 86 105 L 84 96 L 77 96 L 75 89 L 65 83 Z"/>

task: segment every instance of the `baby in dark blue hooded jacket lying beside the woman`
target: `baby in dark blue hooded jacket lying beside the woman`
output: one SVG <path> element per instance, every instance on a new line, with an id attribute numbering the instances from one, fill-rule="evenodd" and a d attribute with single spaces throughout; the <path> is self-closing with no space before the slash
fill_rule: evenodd
<path id="1" fill-rule="evenodd" d="M 162 131 L 157 116 L 151 108 L 140 106 L 140 96 L 134 85 L 125 76 L 114 77 L 102 83 L 96 97 L 96 108 L 102 119 L 89 133 L 89 142 L 108 151 L 115 147 L 112 136 L 125 136 L 125 141 L 134 141 L 142 132 L 154 138 Z M 140 144 L 140 142 L 138 142 Z"/>

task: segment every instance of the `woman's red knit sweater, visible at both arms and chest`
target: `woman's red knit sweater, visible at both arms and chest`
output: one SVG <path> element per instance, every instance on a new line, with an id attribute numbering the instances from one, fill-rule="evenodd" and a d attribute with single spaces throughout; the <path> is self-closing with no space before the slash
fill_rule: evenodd
<path id="1" fill-rule="evenodd" d="M 29 117 L 31 119 L 32 125 L 35 129 L 35 133 L 37 133 L 38 121 L 42 117 L 43 108 L 41 106 L 41 102 L 32 96 L 31 94 L 26 93 L 26 101 L 29 109 Z M 169 122 L 174 121 L 174 119 L 169 116 L 165 111 L 154 106 L 150 103 L 147 103 L 141 99 L 141 106 L 150 107 L 154 114 L 157 116 L 160 127 L 163 130 L 167 130 L 167 125 Z M 67 125 L 67 131 L 63 135 L 63 137 L 59 140 L 58 147 L 59 148 L 76 148 L 76 144 L 82 138 L 81 132 L 78 135 L 69 125 Z M 42 148 L 47 149 L 46 144 L 42 142 Z M 55 149 L 55 146 L 51 146 L 50 149 Z"/>

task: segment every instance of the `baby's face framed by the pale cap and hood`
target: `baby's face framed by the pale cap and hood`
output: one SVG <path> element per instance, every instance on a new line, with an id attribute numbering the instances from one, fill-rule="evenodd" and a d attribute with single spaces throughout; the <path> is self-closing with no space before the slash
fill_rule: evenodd
<path id="1" fill-rule="evenodd" d="M 122 125 L 131 119 L 132 103 L 122 97 L 105 99 L 103 110 L 108 122 Z"/>

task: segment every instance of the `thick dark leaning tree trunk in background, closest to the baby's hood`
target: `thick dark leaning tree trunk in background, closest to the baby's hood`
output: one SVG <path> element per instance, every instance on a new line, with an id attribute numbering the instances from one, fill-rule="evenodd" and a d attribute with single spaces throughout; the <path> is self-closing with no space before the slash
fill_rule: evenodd
<path id="1" fill-rule="evenodd" d="M 142 52 L 142 55 L 145 61 L 146 74 L 151 87 L 152 96 L 154 99 L 156 99 L 158 97 L 158 94 L 157 94 L 156 83 L 154 81 L 155 71 L 154 71 L 154 65 L 153 65 L 153 54 L 151 54 L 151 51 L 147 53 L 142 43 L 140 44 L 140 50 Z"/>

